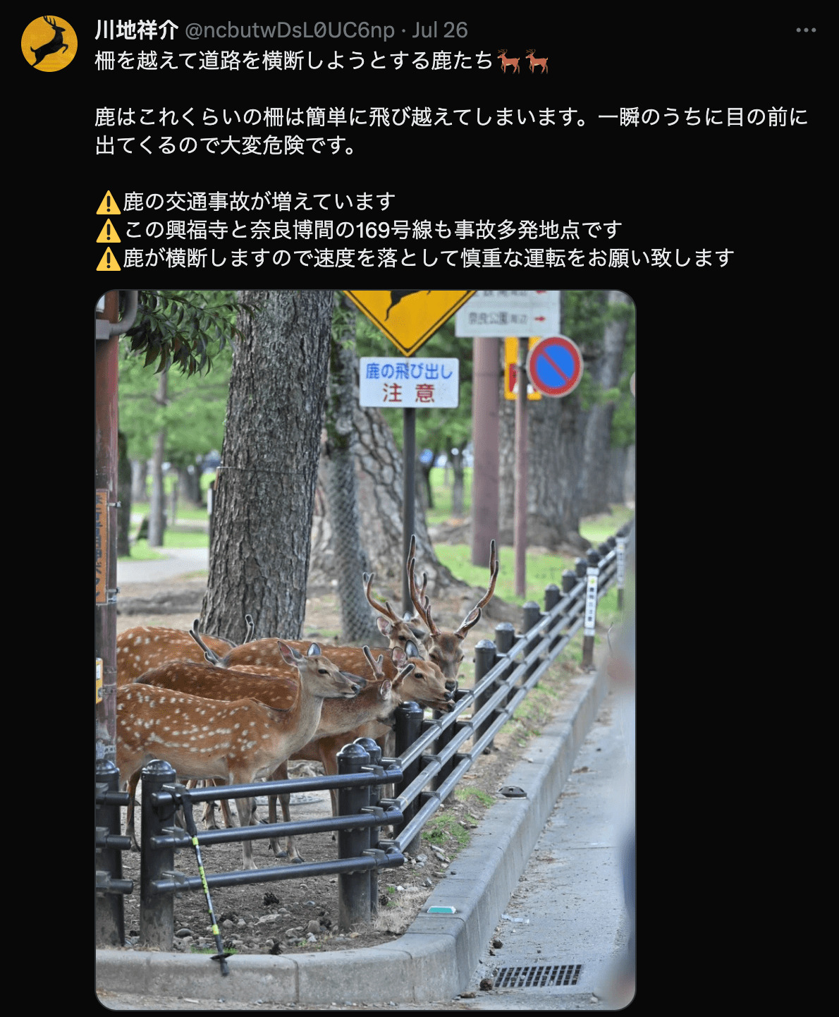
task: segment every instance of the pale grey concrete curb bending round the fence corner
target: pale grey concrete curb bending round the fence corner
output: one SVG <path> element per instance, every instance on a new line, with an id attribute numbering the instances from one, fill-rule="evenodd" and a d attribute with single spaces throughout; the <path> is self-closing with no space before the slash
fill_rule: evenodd
<path id="1" fill-rule="evenodd" d="M 572 679 L 560 712 L 528 746 L 507 777 L 527 797 L 502 798 L 487 813 L 469 847 L 428 898 L 423 912 L 393 943 L 288 957 L 244 955 L 222 978 L 205 956 L 97 950 L 97 988 L 154 996 L 242 1003 L 428 1003 L 464 992 L 539 834 L 571 773 L 574 759 L 606 695 L 602 671 Z"/>

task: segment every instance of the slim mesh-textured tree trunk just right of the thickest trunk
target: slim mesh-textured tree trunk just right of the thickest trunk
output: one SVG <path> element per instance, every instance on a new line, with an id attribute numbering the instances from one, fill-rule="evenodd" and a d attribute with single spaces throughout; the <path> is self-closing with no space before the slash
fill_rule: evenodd
<path id="1" fill-rule="evenodd" d="M 374 611 L 364 593 L 362 574 L 367 559 L 359 539 L 358 497 L 353 445 L 353 407 L 358 404 L 355 370 L 355 308 L 340 300 L 340 334 L 333 336 L 329 355 L 329 391 L 326 402 L 326 441 L 321 462 L 325 466 L 326 506 L 335 535 L 334 577 L 338 583 L 342 638 L 350 643 L 375 644 L 380 634 Z"/>

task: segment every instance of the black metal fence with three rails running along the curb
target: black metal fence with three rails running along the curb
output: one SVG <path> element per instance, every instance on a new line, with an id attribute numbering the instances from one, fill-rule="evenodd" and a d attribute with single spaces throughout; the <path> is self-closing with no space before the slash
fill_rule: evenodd
<path id="1" fill-rule="evenodd" d="M 338 874 L 339 925 L 348 930 L 367 922 L 378 901 L 378 870 L 401 865 L 404 853 L 419 845 L 423 827 L 454 791 L 475 760 L 513 718 L 531 689 L 582 627 L 583 666 L 591 667 L 597 603 L 617 586 L 622 607 L 626 524 L 574 570 L 562 574 L 561 590 L 545 590 L 545 610 L 529 601 L 523 608 L 522 631 L 510 622 L 495 626 L 495 641 L 475 646 L 475 683 L 455 694 L 452 713 L 434 711 L 426 720 L 416 703 L 397 710 L 396 758 L 382 759 L 370 738 L 359 738 L 339 754 L 339 775 L 295 778 L 267 783 L 187 790 L 165 762 L 148 764 L 142 773 L 140 942 L 171 949 L 176 892 L 214 886 L 239 886 L 306 876 Z M 462 751 L 466 742 L 468 751 Z M 119 775 L 111 763 L 97 764 L 97 940 L 101 945 L 124 942 L 122 895 L 133 890 L 123 880 L 120 851 L 129 847 L 120 829 Z M 395 797 L 380 798 L 379 787 L 395 785 Z M 296 823 L 257 824 L 197 833 L 195 840 L 175 826 L 178 807 L 219 798 L 241 798 L 293 791 L 337 788 L 339 815 Z M 380 838 L 378 828 L 392 826 L 394 836 Z M 297 836 L 334 830 L 338 857 L 309 862 L 204 876 L 187 877 L 175 868 L 175 851 L 193 844 L 230 843 Z M 197 846 L 196 846 L 197 852 Z"/>

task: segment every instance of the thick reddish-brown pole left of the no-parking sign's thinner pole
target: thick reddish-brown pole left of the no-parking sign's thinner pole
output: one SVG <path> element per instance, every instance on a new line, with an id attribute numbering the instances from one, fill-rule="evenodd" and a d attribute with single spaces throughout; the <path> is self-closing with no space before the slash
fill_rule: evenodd
<path id="1" fill-rule="evenodd" d="M 472 564 L 498 540 L 498 339 L 472 340 Z"/>

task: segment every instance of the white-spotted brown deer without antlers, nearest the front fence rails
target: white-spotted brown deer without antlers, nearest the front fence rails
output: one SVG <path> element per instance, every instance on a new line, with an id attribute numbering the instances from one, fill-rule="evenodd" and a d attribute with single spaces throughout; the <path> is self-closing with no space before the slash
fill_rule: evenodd
<path id="1" fill-rule="evenodd" d="M 166 760 L 181 779 L 221 778 L 250 784 L 274 773 L 311 739 L 325 699 L 351 699 L 359 693 L 357 676 L 327 660 L 316 643 L 305 656 L 278 643 L 285 663 L 299 677 L 297 697 L 284 708 L 246 696 L 221 701 L 145 682 L 117 689 L 117 766 L 130 795 L 126 833 L 134 849 L 134 791 L 142 767 L 151 760 Z M 179 665 L 164 666 L 177 669 Z M 292 699 L 288 686 L 284 694 L 287 702 Z M 240 826 L 254 823 L 251 797 L 238 800 L 237 810 Z M 257 868 L 250 841 L 242 844 L 242 863 L 244 869 Z"/>

